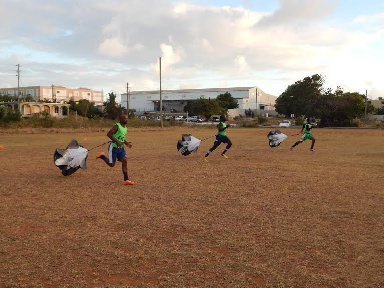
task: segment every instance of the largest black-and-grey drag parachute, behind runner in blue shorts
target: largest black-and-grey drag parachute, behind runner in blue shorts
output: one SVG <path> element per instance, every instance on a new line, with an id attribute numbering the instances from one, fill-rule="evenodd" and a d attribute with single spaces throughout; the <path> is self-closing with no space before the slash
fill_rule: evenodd
<path id="1" fill-rule="evenodd" d="M 58 148 L 53 155 L 55 165 L 61 170 L 64 176 L 75 173 L 79 168 L 87 169 L 86 160 L 88 150 L 72 140 L 67 148 Z"/>

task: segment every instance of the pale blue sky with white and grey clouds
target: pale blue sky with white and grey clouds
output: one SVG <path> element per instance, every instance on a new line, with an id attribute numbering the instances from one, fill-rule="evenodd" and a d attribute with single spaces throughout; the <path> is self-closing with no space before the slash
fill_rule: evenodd
<path id="1" fill-rule="evenodd" d="M 0 0 L 0 87 L 258 86 L 384 97 L 382 0 Z"/>

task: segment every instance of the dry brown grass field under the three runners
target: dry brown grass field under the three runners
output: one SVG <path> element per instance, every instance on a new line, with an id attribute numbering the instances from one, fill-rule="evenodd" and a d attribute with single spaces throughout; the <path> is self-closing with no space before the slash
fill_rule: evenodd
<path id="1" fill-rule="evenodd" d="M 53 164 L 105 133 L 0 135 L 0 288 L 384 286 L 384 131 L 315 130 L 314 155 L 268 131 L 229 130 L 209 163 L 212 139 L 176 142 L 214 130 L 128 132 L 134 186 L 105 147 L 68 177 Z"/>

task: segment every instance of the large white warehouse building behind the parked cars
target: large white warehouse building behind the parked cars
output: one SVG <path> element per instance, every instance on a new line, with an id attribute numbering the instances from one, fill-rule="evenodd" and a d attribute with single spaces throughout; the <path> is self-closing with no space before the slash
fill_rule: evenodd
<path id="1" fill-rule="evenodd" d="M 215 99 L 219 94 L 231 93 L 238 102 L 238 109 L 229 110 L 231 117 L 245 115 L 244 111 L 258 110 L 260 114 L 276 115 L 275 102 L 277 97 L 265 93 L 259 87 L 233 87 L 208 89 L 163 90 L 162 105 L 165 113 L 183 113 L 188 100 L 200 98 Z M 121 105 L 128 108 L 127 93 L 121 94 Z M 130 109 L 136 112 L 160 111 L 160 91 L 130 92 Z"/>

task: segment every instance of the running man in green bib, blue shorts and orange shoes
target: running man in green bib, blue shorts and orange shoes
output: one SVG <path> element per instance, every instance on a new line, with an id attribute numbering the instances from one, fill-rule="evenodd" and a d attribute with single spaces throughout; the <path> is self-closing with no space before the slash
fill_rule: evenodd
<path id="1" fill-rule="evenodd" d="M 100 152 L 96 156 L 96 159 L 101 158 L 109 167 L 115 166 L 116 159 L 118 161 L 121 161 L 124 175 L 123 183 L 125 185 L 133 185 L 135 183 L 133 181 L 130 181 L 128 178 L 127 154 L 124 150 L 124 144 L 129 148 L 132 147 L 131 142 L 125 141 L 125 136 L 127 134 L 127 123 L 127 115 L 122 114 L 120 116 L 120 122 L 116 123 L 107 133 L 108 138 L 112 140 L 108 147 L 109 158 L 104 155 L 104 152 Z"/>

